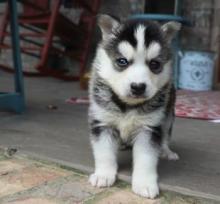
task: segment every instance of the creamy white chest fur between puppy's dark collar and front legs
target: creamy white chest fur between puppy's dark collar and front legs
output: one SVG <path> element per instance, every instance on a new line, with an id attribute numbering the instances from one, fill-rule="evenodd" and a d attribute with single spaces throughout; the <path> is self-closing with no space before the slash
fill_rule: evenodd
<path id="1" fill-rule="evenodd" d="M 138 114 L 135 110 L 127 113 L 116 113 L 105 110 L 93 103 L 90 113 L 100 120 L 103 125 L 114 126 L 120 131 L 120 137 L 126 141 L 133 132 L 140 128 L 147 129 L 148 126 L 156 126 L 163 117 L 163 110 L 158 109 L 148 114 Z"/>

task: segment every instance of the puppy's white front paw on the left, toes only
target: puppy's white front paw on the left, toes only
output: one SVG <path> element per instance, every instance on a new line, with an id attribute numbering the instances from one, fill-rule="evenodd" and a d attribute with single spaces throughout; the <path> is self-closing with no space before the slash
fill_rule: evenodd
<path id="1" fill-rule="evenodd" d="M 89 177 L 89 182 L 95 187 L 109 187 L 114 184 L 116 180 L 116 175 L 114 174 L 91 174 Z"/>

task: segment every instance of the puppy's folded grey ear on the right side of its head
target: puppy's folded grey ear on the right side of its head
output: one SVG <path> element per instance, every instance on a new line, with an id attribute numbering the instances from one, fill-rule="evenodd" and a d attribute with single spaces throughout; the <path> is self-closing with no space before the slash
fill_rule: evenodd
<path id="1" fill-rule="evenodd" d="M 162 25 L 162 31 L 165 33 L 165 38 L 168 43 L 171 43 L 176 33 L 181 29 L 181 23 L 170 21 Z"/>

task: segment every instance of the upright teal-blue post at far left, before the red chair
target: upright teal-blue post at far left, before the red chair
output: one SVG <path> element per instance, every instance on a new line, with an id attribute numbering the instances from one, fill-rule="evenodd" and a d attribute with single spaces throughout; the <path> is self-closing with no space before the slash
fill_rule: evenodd
<path id="1" fill-rule="evenodd" d="M 21 51 L 19 45 L 19 31 L 18 31 L 18 13 L 17 13 L 17 1 L 9 0 L 9 11 L 10 11 L 10 26 L 11 26 L 11 40 L 12 40 L 12 54 L 13 63 L 15 69 L 15 91 L 19 93 L 20 110 L 24 109 L 24 84 L 22 74 L 22 62 L 21 62 Z"/>

